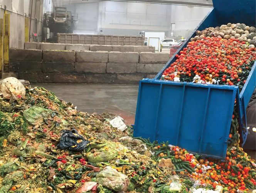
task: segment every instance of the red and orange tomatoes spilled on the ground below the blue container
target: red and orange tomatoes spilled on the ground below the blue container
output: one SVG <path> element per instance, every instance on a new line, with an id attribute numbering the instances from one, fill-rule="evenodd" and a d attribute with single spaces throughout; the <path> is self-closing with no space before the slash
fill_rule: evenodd
<path id="1" fill-rule="evenodd" d="M 173 146 L 171 150 L 179 152 L 179 149 L 179 147 Z M 189 161 L 191 167 L 195 168 L 193 173 L 181 171 L 180 174 L 187 175 L 194 181 L 199 181 L 202 186 L 211 185 L 215 189 L 219 185 L 224 188 L 223 192 L 230 193 L 236 193 L 237 190 L 246 193 L 256 186 L 255 166 L 247 166 L 246 160 L 249 157 L 243 152 L 242 148 L 231 153 L 228 152 L 227 161 L 197 159 L 193 154 L 187 153 L 185 149 L 180 151 L 185 152 L 183 154 L 185 161 Z M 241 160 L 244 160 L 244 162 Z"/>

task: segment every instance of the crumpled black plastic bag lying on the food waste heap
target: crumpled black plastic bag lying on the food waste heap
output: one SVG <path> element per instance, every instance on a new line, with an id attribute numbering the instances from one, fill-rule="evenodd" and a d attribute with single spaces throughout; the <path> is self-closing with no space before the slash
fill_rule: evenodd
<path id="1" fill-rule="evenodd" d="M 60 149 L 69 149 L 71 151 L 82 151 L 86 148 L 89 141 L 86 141 L 83 136 L 77 133 L 76 129 L 63 130 L 61 140 L 57 145 Z"/>

